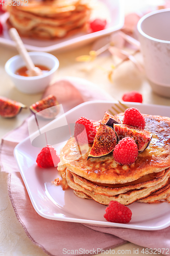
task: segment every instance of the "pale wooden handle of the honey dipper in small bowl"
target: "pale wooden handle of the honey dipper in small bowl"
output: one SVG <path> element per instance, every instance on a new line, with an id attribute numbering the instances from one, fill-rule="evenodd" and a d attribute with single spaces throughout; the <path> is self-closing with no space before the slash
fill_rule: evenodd
<path id="1" fill-rule="evenodd" d="M 34 65 L 32 59 L 30 58 L 30 55 L 28 54 L 25 46 L 23 45 L 23 42 L 22 42 L 17 30 L 15 28 L 11 28 L 9 30 L 9 34 L 10 34 L 11 38 L 13 39 L 13 41 L 15 41 L 16 48 L 17 48 L 19 54 L 21 55 L 22 59 L 25 61 L 27 69 L 30 71 L 34 70 L 35 65 Z"/>

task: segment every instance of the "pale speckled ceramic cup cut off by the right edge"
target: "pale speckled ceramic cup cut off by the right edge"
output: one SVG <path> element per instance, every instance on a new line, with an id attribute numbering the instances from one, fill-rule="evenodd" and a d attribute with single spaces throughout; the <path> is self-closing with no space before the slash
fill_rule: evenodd
<path id="1" fill-rule="evenodd" d="M 137 29 L 151 87 L 157 94 L 170 97 L 170 9 L 144 15 Z"/>

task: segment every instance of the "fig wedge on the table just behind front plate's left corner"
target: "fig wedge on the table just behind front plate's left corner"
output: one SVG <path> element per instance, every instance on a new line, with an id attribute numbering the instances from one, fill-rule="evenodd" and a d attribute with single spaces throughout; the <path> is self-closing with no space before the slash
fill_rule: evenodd
<path id="1" fill-rule="evenodd" d="M 59 113 L 59 105 L 58 101 L 54 95 L 49 95 L 44 99 L 37 101 L 36 103 L 30 106 L 30 110 L 36 114 L 40 113 L 40 115 L 47 119 L 52 119 Z M 58 105 L 58 106 L 57 106 Z M 57 106 L 57 107 L 55 107 Z M 54 107 L 54 108 L 52 108 Z"/>

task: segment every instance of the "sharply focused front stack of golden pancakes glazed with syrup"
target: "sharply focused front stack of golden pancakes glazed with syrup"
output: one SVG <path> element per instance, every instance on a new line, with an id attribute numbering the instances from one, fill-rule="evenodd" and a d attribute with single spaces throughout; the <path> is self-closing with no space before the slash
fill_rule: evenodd
<path id="1" fill-rule="evenodd" d="M 78 146 L 75 138 L 67 141 L 58 170 L 77 196 L 104 205 L 112 200 L 124 205 L 170 202 L 170 118 L 143 116 L 153 138 L 131 165 L 116 163 L 112 153 L 87 160 L 90 144 Z"/>

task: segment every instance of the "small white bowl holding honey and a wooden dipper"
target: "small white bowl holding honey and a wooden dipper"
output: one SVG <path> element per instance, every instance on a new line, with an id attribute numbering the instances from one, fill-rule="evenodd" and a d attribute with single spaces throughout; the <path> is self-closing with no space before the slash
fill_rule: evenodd
<path id="1" fill-rule="evenodd" d="M 29 55 L 35 65 L 44 65 L 49 68 L 50 71 L 40 76 L 27 77 L 16 75 L 16 70 L 26 66 L 20 55 L 10 58 L 5 64 L 5 70 L 20 92 L 27 94 L 40 93 L 43 92 L 52 81 L 59 67 L 59 60 L 54 55 L 45 52 L 29 52 Z"/>

